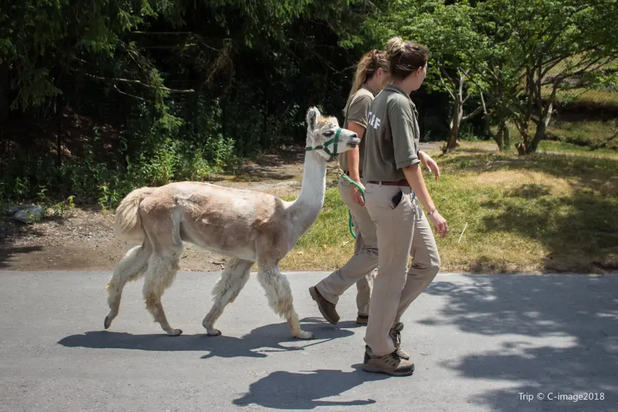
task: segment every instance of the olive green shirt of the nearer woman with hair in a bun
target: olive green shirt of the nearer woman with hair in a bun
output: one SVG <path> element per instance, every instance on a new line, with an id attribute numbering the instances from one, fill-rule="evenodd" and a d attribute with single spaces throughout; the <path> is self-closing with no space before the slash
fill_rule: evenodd
<path id="1" fill-rule="evenodd" d="M 389 84 L 369 108 L 363 176 L 372 181 L 406 179 L 405 166 L 420 163 L 416 106 L 400 87 Z"/>

